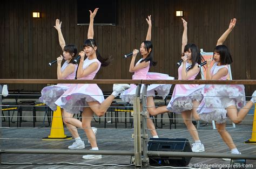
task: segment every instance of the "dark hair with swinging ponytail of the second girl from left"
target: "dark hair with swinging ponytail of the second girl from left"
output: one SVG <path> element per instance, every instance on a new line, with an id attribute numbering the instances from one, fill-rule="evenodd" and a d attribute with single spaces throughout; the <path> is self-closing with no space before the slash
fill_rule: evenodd
<path id="1" fill-rule="evenodd" d="M 93 48 L 93 47 L 97 46 L 97 44 L 96 44 L 96 41 L 94 39 L 87 39 L 87 40 L 84 41 L 83 46 L 84 47 L 90 46 L 90 47 Z M 96 50 L 96 56 L 97 56 L 97 59 L 102 63 L 102 66 L 109 65 L 113 60 L 113 58 L 111 56 L 107 57 L 107 58 L 102 58 L 102 56 L 99 54 L 98 48 Z"/>

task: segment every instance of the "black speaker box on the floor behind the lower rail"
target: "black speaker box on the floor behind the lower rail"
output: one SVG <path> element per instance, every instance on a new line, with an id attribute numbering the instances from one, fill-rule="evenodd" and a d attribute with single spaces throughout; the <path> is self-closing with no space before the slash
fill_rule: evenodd
<path id="1" fill-rule="evenodd" d="M 192 152 L 190 142 L 186 138 L 150 138 L 149 151 Z M 150 165 L 184 167 L 190 163 L 191 157 L 149 157 Z"/>

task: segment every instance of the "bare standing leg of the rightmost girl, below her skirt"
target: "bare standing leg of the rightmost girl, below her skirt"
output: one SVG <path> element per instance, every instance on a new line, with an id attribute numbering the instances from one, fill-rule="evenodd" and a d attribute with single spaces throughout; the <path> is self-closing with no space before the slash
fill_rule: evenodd
<path id="1" fill-rule="evenodd" d="M 216 124 L 216 129 L 218 130 L 221 138 L 224 140 L 230 150 L 235 149 L 236 147 L 233 139 L 230 136 L 230 133 L 228 133 L 226 130 L 226 123 Z"/>

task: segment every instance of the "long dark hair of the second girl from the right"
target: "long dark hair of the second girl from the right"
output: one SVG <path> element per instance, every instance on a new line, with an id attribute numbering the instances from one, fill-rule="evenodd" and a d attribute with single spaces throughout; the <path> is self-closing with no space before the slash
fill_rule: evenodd
<path id="1" fill-rule="evenodd" d="M 192 65 L 187 68 L 187 71 L 192 69 L 196 64 L 200 65 L 201 60 L 204 60 L 201 53 L 198 50 L 198 47 L 196 44 L 187 44 L 184 47 L 184 53 L 187 51 L 191 51 L 191 60 L 192 60 Z"/>

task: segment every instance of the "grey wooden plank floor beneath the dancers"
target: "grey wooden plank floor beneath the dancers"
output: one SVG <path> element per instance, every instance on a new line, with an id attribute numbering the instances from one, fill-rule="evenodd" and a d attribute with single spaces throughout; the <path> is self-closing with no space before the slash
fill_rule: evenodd
<path id="1" fill-rule="evenodd" d="M 41 126 L 42 122 L 37 122 L 36 126 Z M 3 122 L 3 127 L 8 123 Z M 114 129 L 114 123 L 107 123 L 104 129 L 104 123 L 93 123 L 92 126 L 98 128 L 97 143 L 100 150 L 133 150 L 132 129 L 124 129 L 124 123 L 118 123 L 118 129 Z M 129 126 L 130 123 L 129 123 Z M 217 130 L 213 130 L 211 125 L 201 127 L 199 132 L 200 140 L 205 145 L 205 152 L 229 153 L 229 149 L 223 142 Z M 174 128 L 174 125 L 172 125 Z M 251 138 L 252 125 L 237 125 L 236 128 L 227 129 L 233 137 L 234 143 L 242 154 L 256 154 L 256 145 L 244 144 L 244 141 Z M 185 124 L 177 124 L 177 129 L 169 129 L 169 124 L 163 125 L 163 129 L 157 129 L 159 137 L 163 138 L 187 138 L 192 144 L 190 133 L 186 130 Z M 65 129 L 66 135 L 69 135 Z M 150 132 L 148 131 L 149 135 Z M 68 151 L 68 146 L 73 140 L 42 140 L 50 134 L 50 128 L 32 128 L 31 122 L 22 122 L 22 128 L 3 128 L 2 129 L 2 149 L 63 149 Z M 79 130 L 80 137 L 84 139 L 85 149 L 89 150 L 90 145 L 87 143 L 85 133 Z M 151 136 L 151 135 L 150 135 Z M 130 156 L 103 156 L 102 159 L 84 160 L 81 155 L 60 155 L 60 154 L 2 154 L 1 168 L 134 168 L 134 166 L 83 166 L 72 164 L 130 164 Z M 22 165 L 9 165 L 6 163 L 32 163 Z M 43 163 L 43 165 L 36 165 Z M 48 164 L 48 163 L 59 163 Z M 230 164 L 230 161 L 214 158 L 192 158 L 192 164 Z M 247 160 L 246 164 L 252 164 L 256 167 L 256 160 Z M 254 168 L 255 168 L 254 167 Z"/>

